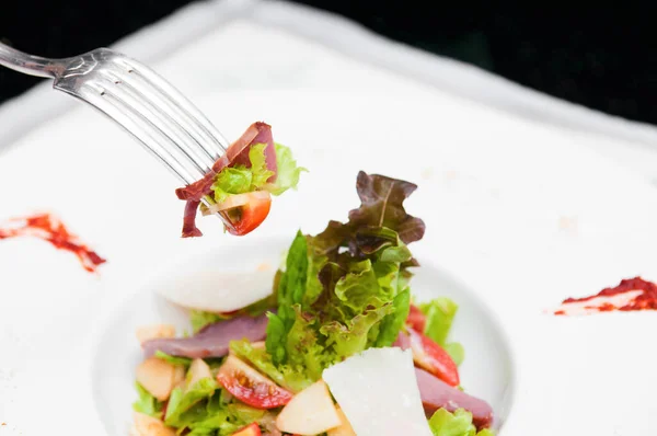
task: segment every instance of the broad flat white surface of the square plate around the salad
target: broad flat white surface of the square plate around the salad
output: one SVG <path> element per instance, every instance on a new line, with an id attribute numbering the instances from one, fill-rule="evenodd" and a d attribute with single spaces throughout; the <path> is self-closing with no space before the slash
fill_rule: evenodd
<path id="1" fill-rule="evenodd" d="M 201 62 L 208 50 L 217 58 Z M 311 170 L 247 240 L 291 238 L 299 227 L 312 233 L 345 219 L 358 170 L 419 185 L 407 206 L 427 222 L 418 252 L 473 289 L 518 351 L 518 395 L 504 436 L 654 429 L 657 355 L 645 346 L 654 313 L 542 312 L 624 277 L 657 278 L 656 193 L 593 152 L 590 139 L 245 21 L 153 67 L 228 137 L 264 119 Z M 42 241 L 0 242 L 0 287 L 9 296 L 0 305 L 0 345 L 11 351 L 0 360 L 0 420 L 8 424 L 0 433 L 45 434 L 65 422 L 68 434 L 102 434 L 83 376 L 99 319 L 172 256 L 220 248 L 229 237 L 203 219 L 205 238 L 180 240 L 176 182 L 85 107 L 18 140 L 0 158 L 0 216 L 56 211 L 108 260 L 93 276 Z M 610 398 L 619 399 L 614 413 Z"/>

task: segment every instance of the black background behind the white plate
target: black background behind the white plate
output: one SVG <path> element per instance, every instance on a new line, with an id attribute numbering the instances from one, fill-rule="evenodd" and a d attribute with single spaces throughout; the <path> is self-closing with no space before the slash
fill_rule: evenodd
<path id="1" fill-rule="evenodd" d="M 2 4 L 0 38 L 24 51 L 70 56 L 107 46 L 188 2 L 11 0 Z M 390 38 L 471 62 L 557 97 L 657 124 L 653 50 L 657 24 L 649 7 L 627 2 L 616 3 L 615 9 L 602 3 L 549 9 L 537 7 L 542 3 L 518 8 L 408 0 L 298 2 L 348 16 Z M 0 68 L 0 102 L 37 81 Z"/>

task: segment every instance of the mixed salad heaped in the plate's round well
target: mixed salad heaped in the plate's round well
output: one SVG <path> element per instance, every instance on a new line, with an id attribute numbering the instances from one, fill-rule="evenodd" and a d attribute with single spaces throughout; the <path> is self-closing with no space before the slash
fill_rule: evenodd
<path id="1" fill-rule="evenodd" d="M 182 337 L 138 331 L 131 435 L 494 435 L 491 406 L 460 386 L 457 305 L 411 295 L 417 186 L 360 172 L 356 187 L 347 222 L 296 236 L 268 298 L 193 310 Z"/>

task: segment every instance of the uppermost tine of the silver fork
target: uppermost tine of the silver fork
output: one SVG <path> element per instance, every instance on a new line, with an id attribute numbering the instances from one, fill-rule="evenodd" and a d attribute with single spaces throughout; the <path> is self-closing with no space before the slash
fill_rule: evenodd
<path id="1" fill-rule="evenodd" d="M 178 90 L 164 80 L 160 74 L 151 70 L 143 64 L 122 57 L 116 59 L 118 65 L 124 66 L 129 76 L 136 81 L 146 84 L 158 91 L 159 100 L 164 103 L 168 111 L 173 112 L 173 118 L 181 117 L 187 123 L 191 131 L 198 135 L 201 140 L 199 145 L 204 147 L 210 156 L 217 159 L 226 152 L 230 142 L 221 135 L 215 125 Z"/>

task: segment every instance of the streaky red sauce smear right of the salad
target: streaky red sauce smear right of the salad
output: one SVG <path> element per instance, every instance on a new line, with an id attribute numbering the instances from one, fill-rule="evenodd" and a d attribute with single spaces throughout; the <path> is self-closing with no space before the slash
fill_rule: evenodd
<path id="1" fill-rule="evenodd" d="M 590 302 L 590 305 L 587 305 Z M 604 288 L 600 292 L 583 298 L 566 298 L 556 315 L 574 314 L 572 308 L 577 306 L 584 314 L 591 312 L 657 310 L 657 285 L 641 277 L 626 278 L 613 288 Z M 579 314 L 579 313 L 578 313 Z"/>

